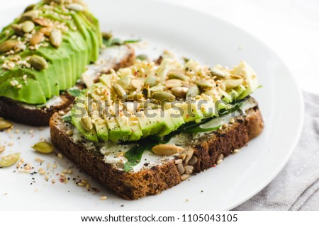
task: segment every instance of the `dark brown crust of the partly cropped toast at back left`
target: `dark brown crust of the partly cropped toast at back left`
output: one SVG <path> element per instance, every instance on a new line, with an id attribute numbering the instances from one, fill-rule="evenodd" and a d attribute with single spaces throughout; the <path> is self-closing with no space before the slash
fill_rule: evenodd
<path id="1" fill-rule="evenodd" d="M 121 62 L 114 64 L 112 69 L 118 70 L 123 67 L 130 67 L 135 62 L 135 51 L 132 47 L 129 47 L 129 49 L 130 54 L 124 57 Z M 23 104 L 16 100 L 0 97 L 0 117 L 34 127 L 48 126 L 50 117 L 54 113 L 67 109 L 74 101 L 74 97 L 68 93 L 61 94 L 60 98 L 62 98 L 62 103 L 52 105 L 50 108 L 43 106 L 31 109 L 23 107 Z"/>

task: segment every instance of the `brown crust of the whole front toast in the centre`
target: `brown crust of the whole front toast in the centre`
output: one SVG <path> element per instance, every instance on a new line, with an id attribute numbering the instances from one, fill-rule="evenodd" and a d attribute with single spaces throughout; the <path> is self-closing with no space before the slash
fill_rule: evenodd
<path id="1" fill-rule="evenodd" d="M 61 115 L 56 113 L 52 116 L 50 132 L 53 144 L 92 178 L 99 180 L 123 199 L 135 200 L 156 195 L 181 183 L 181 174 L 174 160 L 135 173 L 125 173 L 113 168 L 103 161 L 103 155 L 99 151 L 88 150 L 81 142 L 74 143 L 67 135 L 70 126 L 72 125 L 62 122 Z M 234 149 L 242 148 L 250 139 L 257 137 L 263 127 L 262 115 L 256 106 L 246 111 L 246 117 L 236 117 L 232 125 L 194 139 L 187 146 L 194 149 L 194 156 L 198 158 L 194 173 L 215 166 L 220 154 L 228 156 Z"/>

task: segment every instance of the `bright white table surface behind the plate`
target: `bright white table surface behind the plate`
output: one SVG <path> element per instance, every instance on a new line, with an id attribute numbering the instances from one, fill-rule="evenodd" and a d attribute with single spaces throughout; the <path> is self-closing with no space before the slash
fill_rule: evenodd
<path id="1" fill-rule="evenodd" d="M 10 0 L 1 4 L 1 9 L 36 1 Z M 281 57 L 303 90 L 319 94 L 318 0 L 157 1 L 194 8 L 246 30 Z"/>

